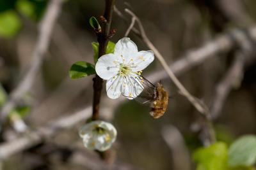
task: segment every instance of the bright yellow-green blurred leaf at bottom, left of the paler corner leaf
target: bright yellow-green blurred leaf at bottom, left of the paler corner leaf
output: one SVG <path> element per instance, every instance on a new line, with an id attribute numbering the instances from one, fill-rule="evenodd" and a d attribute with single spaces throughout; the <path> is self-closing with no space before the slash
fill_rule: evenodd
<path id="1" fill-rule="evenodd" d="M 193 154 L 196 170 L 227 170 L 227 145 L 223 142 L 199 148 Z"/>

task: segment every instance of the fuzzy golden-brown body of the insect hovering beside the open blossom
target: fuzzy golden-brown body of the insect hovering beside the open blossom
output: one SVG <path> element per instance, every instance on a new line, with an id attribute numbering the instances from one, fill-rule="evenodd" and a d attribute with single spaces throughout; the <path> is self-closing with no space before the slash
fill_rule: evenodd
<path id="1" fill-rule="evenodd" d="M 164 90 L 161 83 L 157 83 L 156 89 L 154 90 L 154 99 L 151 104 L 150 115 L 154 118 L 162 117 L 168 106 L 168 92 Z"/>

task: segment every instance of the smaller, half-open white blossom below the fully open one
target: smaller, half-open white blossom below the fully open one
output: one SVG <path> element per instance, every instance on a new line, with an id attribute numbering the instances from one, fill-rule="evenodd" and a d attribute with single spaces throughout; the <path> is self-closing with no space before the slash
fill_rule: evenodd
<path id="1" fill-rule="evenodd" d="M 83 139 L 83 144 L 89 150 L 108 150 L 116 140 L 116 129 L 112 124 L 95 120 L 83 125 L 79 129 L 79 136 Z"/>

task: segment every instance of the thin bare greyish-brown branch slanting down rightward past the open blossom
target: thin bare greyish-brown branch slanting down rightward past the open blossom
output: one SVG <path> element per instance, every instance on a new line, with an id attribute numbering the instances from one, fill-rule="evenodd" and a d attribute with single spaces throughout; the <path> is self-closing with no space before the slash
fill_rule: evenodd
<path id="1" fill-rule="evenodd" d="M 182 85 L 182 83 L 180 83 L 180 81 L 178 80 L 178 78 L 175 76 L 175 74 L 173 73 L 173 71 L 170 69 L 170 67 L 168 66 L 168 64 L 166 63 L 166 61 L 164 60 L 163 55 L 161 55 L 161 53 L 157 50 L 157 48 L 151 43 L 151 41 L 148 39 L 146 32 L 143 28 L 143 25 L 141 24 L 140 19 L 134 14 L 132 13 L 131 10 L 125 9 L 125 11 L 127 13 L 129 13 L 129 15 L 131 15 L 132 17 L 136 18 L 136 21 L 138 22 L 138 25 L 140 27 L 140 32 L 141 32 L 141 37 L 143 39 L 143 41 L 147 44 L 148 48 L 150 48 L 156 55 L 157 59 L 159 60 L 159 62 L 162 64 L 164 70 L 166 71 L 166 73 L 168 74 L 168 76 L 170 76 L 171 80 L 173 81 L 173 83 L 177 86 L 177 88 L 180 90 L 180 92 L 182 93 L 182 95 L 184 95 L 188 101 L 191 102 L 191 104 L 193 104 L 193 106 L 195 106 L 196 110 L 198 110 L 200 113 L 202 114 L 207 114 L 208 111 L 205 108 L 205 106 L 203 106 L 202 103 L 199 102 L 198 99 L 196 99 L 195 97 L 193 97 L 188 90 Z"/>

